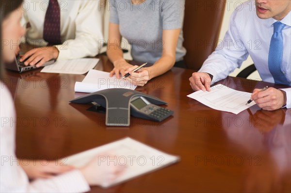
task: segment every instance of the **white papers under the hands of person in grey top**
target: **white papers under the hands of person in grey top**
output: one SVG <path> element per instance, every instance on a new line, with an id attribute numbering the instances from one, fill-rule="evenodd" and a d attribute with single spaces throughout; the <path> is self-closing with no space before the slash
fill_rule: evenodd
<path id="1" fill-rule="evenodd" d="M 75 92 L 96 92 L 104 89 L 132 89 L 137 86 L 125 79 L 117 79 L 115 75 L 109 77 L 109 73 L 90 70 L 82 82 L 75 83 Z"/>

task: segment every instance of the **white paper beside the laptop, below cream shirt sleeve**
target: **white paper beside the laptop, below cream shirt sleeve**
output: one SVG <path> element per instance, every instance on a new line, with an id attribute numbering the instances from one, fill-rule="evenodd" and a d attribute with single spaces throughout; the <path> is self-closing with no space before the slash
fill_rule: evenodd
<path id="1" fill-rule="evenodd" d="M 60 60 L 45 66 L 41 73 L 85 74 L 94 68 L 99 59 L 69 59 Z"/>

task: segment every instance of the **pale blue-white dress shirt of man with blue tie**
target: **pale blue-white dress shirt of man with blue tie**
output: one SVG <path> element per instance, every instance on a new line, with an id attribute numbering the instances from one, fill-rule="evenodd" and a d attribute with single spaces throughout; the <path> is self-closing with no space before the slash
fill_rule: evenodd
<path id="1" fill-rule="evenodd" d="M 241 67 L 250 55 L 263 81 L 274 83 L 268 67 L 268 55 L 275 22 L 274 18 L 260 19 L 256 14 L 255 1 L 246 1 L 232 14 L 224 40 L 205 60 L 199 72 L 212 74 L 214 83 Z M 291 12 L 280 22 L 286 24 L 282 30 L 284 50 L 281 69 L 291 86 Z M 287 108 L 291 108 L 291 88 L 282 90 L 287 94 Z"/>

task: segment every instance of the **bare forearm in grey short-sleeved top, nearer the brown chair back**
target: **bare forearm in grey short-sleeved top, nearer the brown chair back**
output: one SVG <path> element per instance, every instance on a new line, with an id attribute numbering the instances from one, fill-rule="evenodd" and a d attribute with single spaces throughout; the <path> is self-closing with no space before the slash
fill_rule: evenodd
<path id="1" fill-rule="evenodd" d="M 175 64 L 175 56 L 162 56 L 154 65 L 146 68 L 149 80 L 169 71 Z"/>

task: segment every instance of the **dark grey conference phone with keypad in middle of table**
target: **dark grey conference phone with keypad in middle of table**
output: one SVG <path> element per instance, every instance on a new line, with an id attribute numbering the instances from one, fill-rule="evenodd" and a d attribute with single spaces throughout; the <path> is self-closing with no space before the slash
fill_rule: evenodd
<path id="1" fill-rule="evenodd" d="M 157 97 L 130 89 L 105 89 L 78 97 L 71 103 L 95 102 L 106 108 L 107 126 L 129 126 L 130 115 L 142 119 L 162 121 L 174 112 L 160 107 L 166 104 Z"/>

